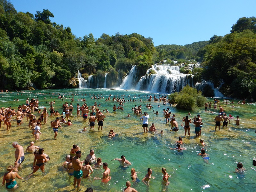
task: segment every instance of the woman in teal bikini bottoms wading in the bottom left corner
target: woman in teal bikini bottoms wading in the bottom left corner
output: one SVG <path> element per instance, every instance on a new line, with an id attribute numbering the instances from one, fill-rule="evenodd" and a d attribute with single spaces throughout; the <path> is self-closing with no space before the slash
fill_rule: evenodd
<path id="1" fill-rule="evenodd" d="M 17 182 L 15 178 L 23 179 L 23 177 L 20 177 L 17 172 L 13 172 L 14 167 L 12 165 L 7 167 L 8 173 L 4 173 L 4 179 L 3 179 L 3 185 L 6 181 L 5 188 L 7 189 L 16 189 L 17 188 Z"/>

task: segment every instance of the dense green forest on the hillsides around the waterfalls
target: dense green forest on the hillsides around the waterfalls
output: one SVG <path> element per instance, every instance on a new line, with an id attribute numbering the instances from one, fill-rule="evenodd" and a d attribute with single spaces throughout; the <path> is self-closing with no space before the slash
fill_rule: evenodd
<path id="1" fill-rule="evenodd" d="M 52 23 L 47 10 L 17 12 L 10 1 L 0 0 L 0 86 L 2 89 L 77 87 L 77 71 L 89 75 L 124 78 L 132 65 L 140 75 L 154 63 L 201 62 L 192 74 L 197 81 L 223 82 L 225 96 L 250 98 L 256 93 L 256 18 L 240 18 L 226 36 L 185 46 L 154 46 L 153 39 L 118 32 L 76 37 L 71 28 Z M 163 63 L 163 62 L 162 62 Z M 161 63 L 159 63 L 161 64 Z"/>

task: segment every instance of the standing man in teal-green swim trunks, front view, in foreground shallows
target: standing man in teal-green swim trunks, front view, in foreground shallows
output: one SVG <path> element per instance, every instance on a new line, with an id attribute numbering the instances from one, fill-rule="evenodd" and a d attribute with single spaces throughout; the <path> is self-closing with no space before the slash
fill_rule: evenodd
<path id="1" fill-rule="evenodd" d="M 79 191 L 80 188 L 80 184 L 81 184 L 81 180 L 82 180 L 82 167 L 83 167 L 83 163 L 84 161 L 80 161 L 80 157 L 81 157 L 81 151 L 76 151 L 76 156 L 74 158 L 72 158 L 72 165 L 74 166 L 74 189 L 76 189 L 76 191 Z M 77 188 L 76 188 L 76 181 L 77 181 Z"/>

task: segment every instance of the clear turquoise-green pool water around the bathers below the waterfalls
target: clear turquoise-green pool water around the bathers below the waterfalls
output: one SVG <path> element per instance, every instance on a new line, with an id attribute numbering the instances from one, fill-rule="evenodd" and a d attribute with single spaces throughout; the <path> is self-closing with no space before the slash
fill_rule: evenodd
<path id="1" fill-rule="evenodd" d="M 55 110 L 62 111 L 62 103 L 70 103 L 69 97 L 64 101 L 58 99 L 58 95 L 53 96 L 51 94 L 35 94 L 37 91 L 29 93 L 22 93 L 21 96 L 17 95 L 17 92 L 13 93 L 0 93 L 1 107 L 9 107 L 17 109 L 19 105 L 26 102 L 27 97 L 38 97 L 39 108 L 46 106 L 48 109 L 50 106 L 46 101 L 55 100 Z M 77 101 L 77 99 L 85 98 L 88 106 L 91 106 L 96 101 L 97 104 L 101 104 L 99 109 L 108 108 L 110 113 L 105 113 L 103 131 L 98 131 L 98 126 L 94 127 L 94 131 L 81 132 L 83 127 L 87 130 L 90 129 L 88 123 L 83 122 L 82 117 L 76 116 L 76 110 L 73 112 L 73 116 L 70 117 L 72 126 L 62 125 L 62 130 L 58 132 L 57 140 L 53 140 L 54 133 L 50 127 L 50 121 L 55 117 L 48 117 L 47 124 L 42 124 L 40 140 L 35 142 L 35 145 L 43 147 L 47 155 L 51 157 L 51 160 L 45 165 L 46 176 L 42 175 L 42 172 L 37 171 L 33 177 L 29 180 L 18 180 L 19 188 L 17 191 L 41 191 L 44 188 L 45 191 L 71 191 L 73 189 L 73 183 L 68 182 L 68 174 L 63 171 L 61 167 L 65 161 L 65 156 L 69 154 L 73 144 L 77 144 L 82 151 L 81 160 L 89 154 L 91 148 L 94 149 L 96 157 L 102 158 L 102 162 L 107 162 L 108 167 L 111 170 L 111 180 L 107 184 L 102 184 L 100 180 L 87 180 L 83 179 L 81 183 L 82 191 L 88 187 L 92 187 L 94 191 L 122 191 L 125 187 L 127 180 L 131 180 L 131 168 L 134 167 L 140 180 L 147 173 L 147 169 L 153 170 L 152 176 L 156 177 L 152 179 L 146 186 L 142 182 L 132 185 L 137 191 L 162 191 L 162 172 L 161 168 L 165 167 L 171 178 L 169 178 L 170 184 L 166 191 L 255 191 L 255 167 L 252 166 L 252 159 L 255 155 L 255 124 L 256 124 L 256 110 L 255 104 L 239 105 L 234 104 L 235 108 L 231 108 L 231 105 L 220 104 L 224 111 L 232 116 L 240 116 L 240 126 L 235 125 L 234 119 L 230 121 L 227 129 L 221 129 L 221 131 L 214 132 L 214 118 L 216 114 L 204 112 L 204 107 L 197 108 L 194 111 L 178 110 L 175 107 L 164 106 L 162 102 L 148 102 L 147 95 L 157 95 L 156 93 L 132 91 L 132 90 L 109 90 L 109 89 L 59 89 L 59 90 L 40 90 L 41 93 L 78 93 L 78 96 L 74 96 L 75 102 L 73 102 L 74 108 L 76 103 L 80 106 L 84 101 Z M 87 94 L 82 96 L 81 94 Z M 91 94 L 102 94 L 104 99 L 91 99 Z M 105 101 L 108 95 L 112 94 L 110 101 Z M 112 107 L 114 104 L 118 106 L 119 103 L 112 101 L 114 95 L 125 94 L 124 98 L 128 99 L 128 95 L 136 95 L 134 99 L 142 99 L 142 101 L 125 102 L 124 110 L 117 110 L 113 112 Z M 138 96 L 140 94 L 140 97 Z M 143 97 L 142 97 L 143 95 Z M 146 97 L 144 97 L 144 95 Z M 161 94 L 162 95 L 162 94 Z M 52 98 L 50 98 L 52 96 Z M 46 99 L 44 99 L 46 97 Z M 117 97 L 117 96 L 116 96 Z M 13 101 L 13 99 L 19 99 L 20 101 Z M 221 100 L 222 101 L 222 100 Z M 230 100 L 231 101 L 231 100 Z M 233 100 L 237 103 L 237 100 Z M 212 99 L 209 99 L 212 102 Z M 159 112 L 159 115 L 153 114 L 153 109 L 145 108 L 146 104 L 151 104 L 153 109 Z M 142 122 L 139 117 L 133 115 L 131 108 L 135 105 L 141 105 L 142 111 L 146 111 L 149 114 L 148 124 L 154 123 L 158 132 L 164 130 L 164 135 L 156 133 L 143 133 Z M 160 105 L 158 108 L 157 106 Z M 183 116 L 186 116 L 188 112 L 191 113 L 191 118 L 200 114 L 203 119 L 202 135 L 198 138 L 195 137 L 194 125 L 191 125 L 190 137 L 184 137 L 184 128 L 179 126 L 179 132 L 170 132 L 170 125 L 166 124 L 163 116 L 163 108 L 170 108 L 172 114 L 175 114 L 175 118 L 180 125 L 182 123 Z M 216 109 L 211 109 L 213 112 L 218 112 Z M 127 117 L 127 114 L 131 117 Z M 36 113 L 38 118 L 39 114 Z M 15 118 L 13 118 L 15 119 Z M 1 175 L 6 172 L 6 167 L 13 164 L 15 161 L 14 151 L 12 147 L 13 141 L 18 141 L 24 149 L 27 148 L 29 143 L 34 140 L 30 129 L 28 128 L 28 122 L 23 120 L 24 124 L 17 127 L 15 121 L 12 121 L 11 130 L 6 130 L 6 126 L 2 125 L 0 129 L 1 141 L 0 147 L 2 157 L 0 158 Z M 3 123 L 2 123 L 3 124 Z M 117 133 L 115 138 L 108 138 L 109 130 L 113 128 Z M 183 146 L 187 148 L 180 155 L 176 151 L 170 150 L 168 147 L 175 148 L 176 140 L 181 136 L 183 138 Z M 204 163 L 201 156 L 197 154 L 201 150 L 199 140 L 204 139 L 207 144 L 205 147 L 206 153 L 209 154 L 209 164 Z M 128 168 L 120 167 L 118 161 L 113 161 L 114 158 L 121 158 L 124 155 L 132 165 Z M 25 153 L 25 161 L 22 163 L 19 175 L 26 177 L 32 172 L 34 155 Z M 242 162 L 246 172 L 244 177 L 232 173 L 235 170 L 237 162 Z M 231 172 L 229 172 L 231 171 Z M 92 177 L 101 177 L 102 170 L 94 170 Z M 1 191 L 5 191 L 2 186 Z M 6 190 L 7 191 L 7 190 Z"/>

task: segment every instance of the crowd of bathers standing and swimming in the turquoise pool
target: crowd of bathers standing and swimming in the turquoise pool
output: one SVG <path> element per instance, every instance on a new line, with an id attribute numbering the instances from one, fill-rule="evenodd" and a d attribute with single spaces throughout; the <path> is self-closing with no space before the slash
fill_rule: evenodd
<path id="1" fill-rule="evenodd" d="M 74 94 L 72 94 L 72 96 L 74 96 Z M 106 100 L 111 100 L 110 96 Z M 146 97 L 146 95 L 144 95 L 144 96 Z M 59 95 L 58 98 L 62 99 L 62 97 L 66 98 L 65 95 L 63 95 L 63 96 Z M 130 95 L 128 96 L 127 101 L 125 101 L 124 95 L 122 95 L 121 97 L 123 97 L 123 98 L 122 99 L 118 98 L 118 97 L 116 98 L 116 96 L 114 96 L 112 98 L 113 101 L 117 101 L 120 105 L 118 107 L 116 107 L 116 105 L 113 106 L 113 111 L 114 112 L 117 109 L 123 110 L 123 107 L 121 107 L 121 106 L 124 106 L 125 102 L 134 101 L 134 99 L 132 100 L 132 97 Z M 133 97 L 135 98 L 135 96 L 133 96 Z M 101 95 L 99 96 L 99 94 L 97 96 L 93 94 L 92 99 L 93 98 L 94 99 L 100 99 L 100 98 L 104 98 L 104 97 L 103 96 L 101 97 Z M 75 101 L 73 97 L 72 97 L 72 99 L 69 97 L 69 99 L 72 102 Z M 81 98 L 81 100 L 85 101 L 85 99 L 82 99 L 82 98 Z M 148 101 L 150 101 L 150 100 L 152 100 L 151 96 L 149 96 Z M 159 97 L 159 99 L 156 98 L 156 96 L 154 96 L 154 100 L 155 101 L 156 100 L 163 101 L 164 104 L 168 103 L 168 100 L 167 100 L 166 96 Z M 228 102 L 228 100 L 225 100 L 225 102 Z M 56 116 L 56 120 L 51 121 L 51 127 L 52 127 L 53 132 L 54 132 L 54 138 L 56 139 L 56 137 L 58 135 L 58 129 L 62 128 L 61 127 L 62 123 L 67 124 L 67 125 L 72 125 L 72 122 L 69 119 L 69 117 L 72 116 L 72 112 L 74 110 L 76 110 L 76 116 L 83 116 L 83 120 L 85 122 L 88 119 L 88 124 L 90 125 L 90 129 L 94 130 L 95 121 L 97 120 L 98 130 L 100 130 L 100 128 L 102 130 L 103 121 L 104 121 L 104 118 L 106 118 L 106 116 L 99 110 L 99 108 L 97 108 L 98 105 L 97 105 L 96 102 L 94 102 L 92 107 L 88 107 L 85 102 L 82 106 L 80 106 L 80 104 L 77 103 L 76 109 L 74 109 L 74 106 L 72 105 L 72 103 L 70 103 L 70 105 L 68 105 L 68 103 L 65 102 L 65 103 L 63 103 L 63 106 L 62 106 L 63 110 L 62 110 L 61 114 L 58 112 L 58 110 L 55 110 L 54 107 L 53 107 L 53 105 L 55 104 L 55 101 L 51 101 L 51 102 L 48 102 L 48 103 L 50 105 L 50 108 L 48 108 L 48 110 L 47 110 L 47 108 L 44 107 L 42 113 L 41 113 L 41 109 L 38 108 L 39 107 L 38 106 L 39 105 L 38 98 L 36 98 L 36 99 L 33 98 L 31 100 L 29 100 L 29 98 L 27 98 L 26 103 L 22 104 L 22 106 L 20 105 L 18 107 L 17 111 L 15 109 L 13 109 L 11 106 L 8 107 L 8 108 L 1 108 L 0 109 L 0 122 L 1 123 L 4 122 L 4 124 L 6 125 L 7 130 L 9 130 L 9 129 L 11 129 L 11 120 L 14 116 L 16 116 L 17 126 L 19 126 L 23 123 L 22 120 L 24 120 L 25 116 L 26 116 L 27 121 L 29 119 L 28 127 L 31 127 L 32 134 L 35 137 L 35 140 L 39 140 L 39 138 L 40 138 L 39 134 L 42 134 L 40 132 L 40 129 L 42 127 L 42 123 L 47 124 L 47 117 L 49 115 L 48 111 L 50 111 L 50 116 Z M 215 109 L 217 108 L 216 107 L 217 103 L 220 103 L 220 101 L 219 100 L 214 100 L 213 107 Z M 242 103 L 245 103 L 245 101 L 243 100 Z M 207 111 L 208 108 L 212 108 L 211 105 L 212 105 L 211 102 L 210 103 L 205 103 L 205 111 Z M 147 109 L 153 108 L 150 104 L 147 104 L 145 107 Z M 158 107 L 160 107 L 160 106 L 158 105 Z M 230 119 L 234 118 L 231 115 L 227 116 L 227 114 L 224 112 L 224 109 L 220 105 L 219 105 L 219 108 L 220 108 L 220 111 L 218 113 L 218 116 L 216 116 L 215 120 L 214 120 L 215 130 L 217 129 L 217 127 L 220 130 L 221 122 L 222 122 L 222 127 L 223 128 L 227 127 L 228 123 L 230 123 Z M 156 127 L 155 127 L 154 123 L 151 124 L 151 126 L 149 127 L 149 130 L 148 130 L 149 115 L 146 112 L 142 113 L 142 106 L 141 105 L 139 105 L 139 106 L 135 105 L 135 107 L 132 108 L 132 111 L 135 115 L 140 116 L 140 120 L 142 121 L 142 127 L 143 127 L 144 133 L 146 133 L 148 131 L 157 133 L 157 130 L 156 130 Z M 40 117 L 38 119 L 36 119 L 35 114 L 32 114 L 32 113 L 35 113 L 35 112 L 37 112 L 40 115 Z M 107 108 L 105 110 L 103 110 L 103 112 L 109 113 Z M 88 113 L 90 114 L 89 118 L 88 118 Z M 159 115 L 158 111 L 156 111 L 156 113 L 155 113 L 155 110 L 153 110 L 153 113 L 156 114 L 156 115 Z M 177 131 L 179 131 L 179 125 L 178 125 L 178 122 L 175 119 L 175 115 L 174 114 L 171 115 L 171 114 L 172 113 L 171 113 L 169 108 L 167 108 L 166 110 L 163 109 L 163 116 L 166 120 L 166 123 L 170 123 L 170 126 L 171 126 L 170 131 L 177 132 Z M 187 132 L 188 132 L 188 136 L 190 136 L 190 124 L 193 123 L 195 125 L 196 136 L 200 136 L 201 135 L 201 128 L 202 128 L 202 125 L 203 125 L 202 118 L 198 114 L 192 120 L 191 118 L 189 118 L 189 115 L 191 115 L 191 114 L 188 113 L 188 116 L 183 117 L 183 119 L 182 119 L 182 122 L 184 122 L 184 130 L 185 130 L 184 135 L 187 136 Z M 128 117 L 129 116 L 130 116 L 130 114 L 128 114 Z M 68 121 L 66 121 L 66 119 L 68 119 Z M 239 122 L 240 122 L 239 116 L 236 116 L 236 125 L 239 125 Z M 183 124 L 181 124 L 181 126 L 182 125 Z M 1 128 L 1 126 L 0 126 L 0 128 Z M 83 131 L 86 131 L 86 129 L 84 128 Z M 163 130 L 161 130 L 160 134 L 163 134 Z M 115 137 L 115 136 L 116 136 L 116 132 L 114 132 L 113 129 L 110 129 L 108 137 Z M 183 150 L 186 150 L 186 148 L 181 147 L 182 144 L 183 144 L 183 141 L 182 141 L 181 137 L 179 137 L 179 140 L 177 140 L 176 143 L 177 143 L 176 148 L 171 148 L 171 147 L 169 147 L 169 148 L 172 149 L 172 150 L 177 150 L 178 152 L 182 152 Z M 202 147 L 206 146 L 206 144 L 204 143 L 204 140 L 202 140 L 202 139 L 200 139 L 200 144 L 202 145 Z M 13 142 L 12 146 L 16 149 L 15 150 L 16 161 L 14 163 L 14 166 L 10 165 L 10 166 L 7 167 L 8 172 L 4 174 L 3 185 L 6 182 L 5 186 L 6 186 L 7 189 L 17 187 L 17 182 L 16 182 L 15 178 L 23 179 L 22 177 L 20 177 L 18 175 L 17 172 L 18 172 L 18 168 L 20 167 L 20 164 L 25 159 L 24 150 L 23 150 L 23 147 L 20 146 L 18 142 Z M 33 162 L 33 172 L 30 173 L 27 176 L 27 179 L 29 179 L 39 169 L 41 169 L 41 171 L 44 173 L 44 163 L 46 163 L 47 161 L 50 160 L 50 157 L 44 153 L 44 148 L 39 148 L 39 147 L 34 145 L 34 142 L 31 142 L 30 146 L 28 146 L 26 151 L 33 152 L 34 156 L 35 156 L 34 162 Z M 74 186 L 74 188 L 77 189 L 77 191 L 80 189 L 81 179 L 82 178 L 84 178 L 84 179 L 90 178 L 93 174 L 93 169 L 100 169 L 101 166 L 105 170 L 103 172 L 102 178 L 93 177 L 93 179 L 101 180 L 102 182 L 105 182 L 105 183 L 108 182 L 111 179 L 110 169 L 108 168 L 108 164 L 107 163 L 102 163 L 101 158 L 96 158 L 96 156 L 94 154 L 94 150 L 91 149 L 90 153 L 86 156 L 85 160 L 83 160 L 83 161 L 80 161 L 80 159 L 79 159 L 79 158 L 81 158 L 81 153 L 82 152 L 81 152 L 80 148 L 77 145 L 74 144 L 73 148 L 71 148 L 70 155 L 66 156 L 66 161 L 63 163 L 63 166 L 66 168 L 66 171 L 68 172 L 69 180 L 71 180 L 72 176 L 74 177 L 73 186 Z M 207 153 L 205 153 L 204 148 L 201 149 L 201 153 L 199 153 L 198 155 L 202 156 L 203 160 L 206 163 L 209 163 L 209 155 Z M 124 167 L 132 165 L 128 160 L 125 159 L 125 156 L 121 156 L 121 159 L 116 158 L 114 160 L 119 161 L 120 164 Z M 163 173 L 163 182 L 164 182 L 163 190 L 165 190 L 165 188 L 169 184 L 168 178 L 171 177 L 171 176 L 167 173 L 165 168 L 162 168 L 161 171 Z M 235 172 L 243 172 L 243 171 L 244 171 L 243 164 L 238 163 L 237 164 L 237 169 L 235 170 Z M 131 169 L 131 178 L 132 178 L 131 182 L 140 182 L 140 179 L 138 178 L 137 173 L 136 173 L 134 168 Z M 154 177 L 152 176 L 152 169 L 148 168 L 147 174 L 145 175 L 145 177 L 141 181 L 144 184 L 149 185 L 149 180 L 151 178 L 154 179 Z M 134 188 L 131 188 L 131 182 L 130 181 L 126 182 L 126 188 L 124 189 L 125 192 L 127 192 L 127 191 L 136 191 Z M 91 189 L 89 188 L 88 190 L 90 191 Z"/>

